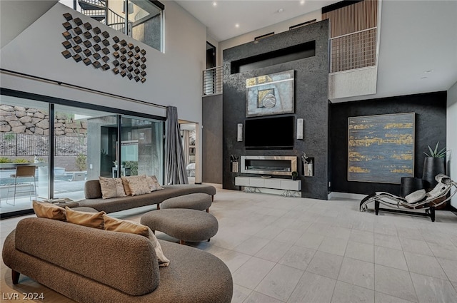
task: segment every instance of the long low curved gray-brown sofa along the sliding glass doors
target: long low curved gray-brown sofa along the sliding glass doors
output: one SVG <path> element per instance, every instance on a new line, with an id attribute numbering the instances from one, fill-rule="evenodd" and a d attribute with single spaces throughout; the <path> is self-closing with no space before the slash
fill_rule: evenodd
<path id="1" fill-rule="evenodd" d="M 88 180 L 84 185 L 86 199 L 79 201 L 79 206 L 92 207 L 98 211 L 104 210 L 106 213 L 154 204 L 157 205 L 157 209 L 160 209 L 160 203 L 166 199 L 200 192 L 211 195 L 214 199 L 216 188 L 211 185 L 166 185 L 163 190 L 156 190 L 145 195 L 102 199 L 99 180 Z"/>

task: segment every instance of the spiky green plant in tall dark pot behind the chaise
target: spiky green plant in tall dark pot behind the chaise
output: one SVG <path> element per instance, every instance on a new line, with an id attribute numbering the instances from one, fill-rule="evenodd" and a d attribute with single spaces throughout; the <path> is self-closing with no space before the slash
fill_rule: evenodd
<path id="1" fill-rule="evenodd" d="M 437 184 L 435 176 L 438 175 L 438 173 L 446 173 L 444 157 L 446 157 L 449 150 L 446 150 L 446 147 L 438 150 L 439 144 L 440 143 L 438 141 L 434 149 L 428 145 L 429 153 L 424 152 L 426 158 L 423 161 L 422 180 L 423 186 L 426 190 L 431 190 L 435 187 Z"/>

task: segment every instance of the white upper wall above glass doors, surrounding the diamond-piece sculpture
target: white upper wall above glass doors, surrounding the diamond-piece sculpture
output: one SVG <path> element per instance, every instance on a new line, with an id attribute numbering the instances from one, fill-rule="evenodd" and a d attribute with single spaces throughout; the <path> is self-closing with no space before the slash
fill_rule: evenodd
<path id="1" fill-rule="evenodd" d="M 25 29 L 13 41 L 1 48 L 1 68 L 29 75 L 49 78 L 76 86 L 114 93 L 120 96 L 156 103 L 161 106 L 176 106 L 179 118 L 201 122 L 201 71 L 206 63 L 206 27 L 189 15 L 174 1 L 166 1 L 165 52 L 124 36 L 94 19 L 79 14 L 63 4 L 56 4 L 41 18 Z M 146 50 L 146 83 L 129 81 L 115 75 L 111 70 L 101 71 L 72 58 L 61 55 L 65 31 L 61 25 L 62 14 L 69 12 L 106 30 L 110 38 L 118 36 L 128 43 Z M 112 40 L 111 40 L 112 42 Z M 112 49 L 111 49 L 112 50 Z M 34 81 L 1 73 L 1 87 L 18 91 L 38 93 L 45 96 L 66 98 L 129 111 L 165 115 L 165 111 L 141 103 L 120 101 L 88 91 L 66 88 L 56 84 Z"/>

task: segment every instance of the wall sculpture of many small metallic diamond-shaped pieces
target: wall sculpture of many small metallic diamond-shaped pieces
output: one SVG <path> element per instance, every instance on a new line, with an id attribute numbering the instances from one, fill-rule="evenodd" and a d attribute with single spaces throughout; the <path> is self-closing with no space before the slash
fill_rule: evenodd
<path id="1" fill-rule="evenodd" d="M 76 62 L 83 62 L 86 66 L 92 65 L 101 71 L 112 71 L 123 78 L 132 78 L 136 82 L 146 82 L 146 51 L 127 43 L 124 39 L 114 36 L 109 41 L 109 33 L 93 27 L 89 22 L 83 24 L 79 18 L 73 19 L 71 14 L 64 14 L 66 22 L 62 24 L 62 35 L 65 41 L 62 45 L 65 51 L 62 56 L 66 59 L 74 58 Z M 110 46 L 113 52 L 110 51 Z M 100 53 L 99 53 L 100 52 Z M 111 62 L 111 66 L 110 63 Z"/>

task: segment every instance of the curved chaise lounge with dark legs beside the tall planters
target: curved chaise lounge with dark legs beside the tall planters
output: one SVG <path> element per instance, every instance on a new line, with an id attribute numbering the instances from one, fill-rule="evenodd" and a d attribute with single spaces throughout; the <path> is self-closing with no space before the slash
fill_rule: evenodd
<path id="1" fill-rule="evenodd" d="M 451 200 L 451 197 L 457 192 L 457 183 L 447 175 L 438 174 L 435 180 L 438 184 L 430 192 L 416 190 L 406 197 L 398 197 L 389 192 L 375 192 L 361 200 L 360 211 L 368 210 L 368 203 L 374 202 L 376 215 L 378 215 L 379 210 L 399 212 L 408 215 L 431 217 L 432 222 L 435 222 L 435 208 Z M 451 192 L 451 195 L 447 197 L 449 192 Z M 381 208 L 381 204 L 389 208 Z"/>

